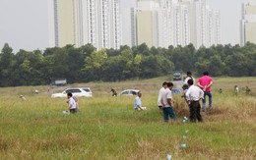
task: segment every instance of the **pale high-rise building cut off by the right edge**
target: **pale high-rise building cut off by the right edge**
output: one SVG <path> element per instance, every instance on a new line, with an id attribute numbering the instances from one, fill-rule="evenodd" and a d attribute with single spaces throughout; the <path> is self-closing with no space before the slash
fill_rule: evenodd
<path id="1" fill-rule="evenodd" d="M 242 4 L 240 21 L 240 45 L 247 41 L 256 44 L 256 3 Z"/>

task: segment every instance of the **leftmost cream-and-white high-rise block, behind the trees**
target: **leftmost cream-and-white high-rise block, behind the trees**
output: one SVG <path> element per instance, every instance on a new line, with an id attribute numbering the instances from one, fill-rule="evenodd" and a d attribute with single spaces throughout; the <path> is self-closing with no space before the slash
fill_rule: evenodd
<path id="1" fill-rule="evenodd" d="M 97 49 L 119 48 L 119 0 L 49 0 L 49 9 L 53 46 L 91 43 Z"/>

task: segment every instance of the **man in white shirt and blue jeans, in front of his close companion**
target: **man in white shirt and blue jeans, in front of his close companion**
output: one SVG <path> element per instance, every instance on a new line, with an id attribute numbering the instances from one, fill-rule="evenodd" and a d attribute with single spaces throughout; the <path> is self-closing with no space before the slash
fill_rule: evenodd
<path id="1" fill-rule="evenodd" d="M 167 82 L 167 88 L 165 89 L 162 98 L 163 106 L 163 119 L 164 122 L 168 122 L 168 117 L 170 117 L 173 121 L 177 121 L 177 117 L 175 115 L 175 112 L 173 110 L 173 98 L 171 94 L 171 89 L 173 87 L 172 82 Z"/>

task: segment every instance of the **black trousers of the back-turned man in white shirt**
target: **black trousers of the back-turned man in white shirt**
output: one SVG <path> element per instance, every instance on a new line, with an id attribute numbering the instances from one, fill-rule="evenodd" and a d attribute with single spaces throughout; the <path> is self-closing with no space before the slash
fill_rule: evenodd
<path id="1" fill-rule="evenodd" d="M 189 116 L 189 120 L 190 122 L 195 123 L 196 120 L 198 120 L 198 122 L 203 122 L 202 116 L 200 114 L 200 103 L 199 101 L 192 101 L 189 104 L 189 112 L 190 112 L 190 116 Z"/>

